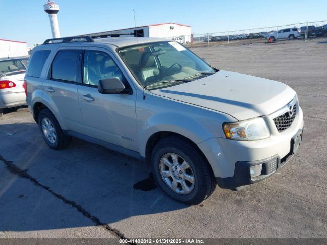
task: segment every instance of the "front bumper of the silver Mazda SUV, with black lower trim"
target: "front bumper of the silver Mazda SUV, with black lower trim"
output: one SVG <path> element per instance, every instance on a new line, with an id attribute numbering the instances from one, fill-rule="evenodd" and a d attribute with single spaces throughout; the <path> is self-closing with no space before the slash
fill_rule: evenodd
<path id="1" fill-rule="evenodd" d="M 303 112 L 298 108 L 292 126 L 283 132 L 278 132 L 270 116 L 263 117 L 271 132 L 267 139 L 237 141 L 214 137 L 198 144 L 212 167 L 217 184 L 235 189 L 264 180 L 283 167 L 294 156 L 294 136 L 303 130 Z M 271 163 L 270 160 L 274 161 L 275 169 L 268 173 L 266 165 Z M 249 169 L 255 164 L 263 164 L 262 174 L 260 178 L 251 179 Z"/>

